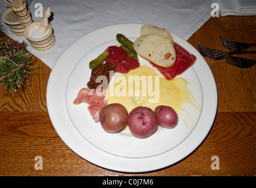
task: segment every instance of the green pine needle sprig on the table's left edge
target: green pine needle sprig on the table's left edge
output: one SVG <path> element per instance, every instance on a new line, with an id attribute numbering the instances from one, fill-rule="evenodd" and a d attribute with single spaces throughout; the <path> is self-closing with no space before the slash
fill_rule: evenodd
<path id="1" fill-rule="evenodd" d="M 28 83 L 29 73 L 35 71 L 29 52 L 18 50 L 0 58 L 0 84 L 5 92 L 16 92 L 25 82 Z"/>

